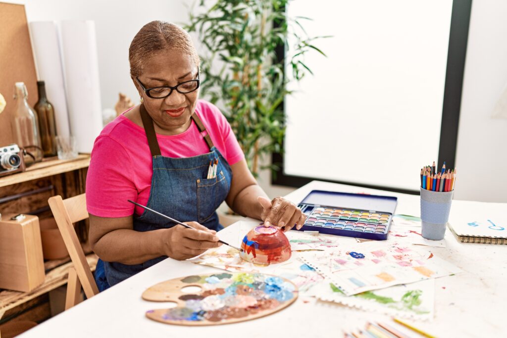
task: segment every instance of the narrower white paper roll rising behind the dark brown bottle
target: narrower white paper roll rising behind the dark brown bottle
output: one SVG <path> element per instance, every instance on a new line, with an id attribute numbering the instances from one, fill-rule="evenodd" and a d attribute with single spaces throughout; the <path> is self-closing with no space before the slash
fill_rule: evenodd
<path id="1" fill-rule="evenodd" d="M 56 23 L 30 22 L 30 32 L 38 78 L 45 82 L 46 95 L 55 109 L 56 132 L 59 136 L 68 136 L 70 129 Z"/>

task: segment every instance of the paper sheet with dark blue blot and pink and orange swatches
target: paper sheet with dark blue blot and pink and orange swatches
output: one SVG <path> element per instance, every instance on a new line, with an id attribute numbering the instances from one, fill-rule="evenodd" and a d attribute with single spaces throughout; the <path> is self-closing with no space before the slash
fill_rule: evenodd
<path id="1" fill-rule="evenodd" d="M 346 249 L 307 252 L 301 259 L 346 295 L 461 272 L 430 251 L 386 242 L 355 243 Z"/>

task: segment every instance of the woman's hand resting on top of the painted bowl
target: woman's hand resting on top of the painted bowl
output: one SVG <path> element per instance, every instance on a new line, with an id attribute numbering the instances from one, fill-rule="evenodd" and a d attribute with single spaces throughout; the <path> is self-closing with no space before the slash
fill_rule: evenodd
<path id="1" fill-rule="evenodd" d="M 272 201 L 262 196 L 257 199 L 263 209 L 261 219 L 264 221 L 265 227 L 274 225 L 284 231 L 289 231 L 294 226 L 298 230 L 303 227 L 306 215 L 301 212 L 296 204 L 287 201 L 283 197 L 275 197 Z"/>

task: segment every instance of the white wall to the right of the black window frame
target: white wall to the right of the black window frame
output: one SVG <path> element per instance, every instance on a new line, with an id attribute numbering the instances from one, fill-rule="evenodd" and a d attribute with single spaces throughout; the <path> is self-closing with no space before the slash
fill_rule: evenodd
<path id="1" fill-rule="evenodd" d="M 507 2 L 472 3 L 459 118 L 455 199 L 507 202 L 507 119 L 491 118 L 507 83 Z"/>

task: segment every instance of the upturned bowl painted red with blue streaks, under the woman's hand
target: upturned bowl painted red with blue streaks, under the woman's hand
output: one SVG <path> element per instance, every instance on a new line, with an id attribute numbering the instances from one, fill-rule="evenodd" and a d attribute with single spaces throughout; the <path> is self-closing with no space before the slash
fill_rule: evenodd
<path id="1" fill-rule="evenodd" d="M 239 255 L 255 264 L 281 263 L 291 258 L 291 244 L 280 229 L 259 226 L 243 238 Z"/>

